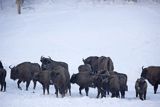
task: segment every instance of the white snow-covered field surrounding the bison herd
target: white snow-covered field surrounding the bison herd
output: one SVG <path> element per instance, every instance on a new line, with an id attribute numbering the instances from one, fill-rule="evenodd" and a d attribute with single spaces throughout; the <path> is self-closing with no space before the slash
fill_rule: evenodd
<path id="1" fill-rule="evenodd" d="M 14 1 L 14 0 L 11 0 Z M 36 0 L 34 0 L 36 1 Z M 7 91 L 0 92 L 0 107 L 159 107 L 160 88 L 156 95 L 148 83 L 147 100 L 135 97 L 135 81 L 142 66 L 160 65 L 160 4 L 113 3 L 90 0 L 47 0 L 26 4 L 18 15 L 14 2 L 0 10 L 0 60 L 7 70 Z M 5 5 L 5 4 L 4 4 Z M 41 84 L 33 93 L 17 88 L 10 79 L 9 65 L 24 61 L 40 63 L 41 56 L 51 56 L 69 64 L 69 72 L 78 72 L 82 58 L 110 56 L 117 72 L 128 76 L 126 98 L 96 98 L 79 95 L 72 84 L 72 95 L 56 98 L 42 94 Z"/>

